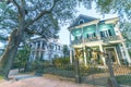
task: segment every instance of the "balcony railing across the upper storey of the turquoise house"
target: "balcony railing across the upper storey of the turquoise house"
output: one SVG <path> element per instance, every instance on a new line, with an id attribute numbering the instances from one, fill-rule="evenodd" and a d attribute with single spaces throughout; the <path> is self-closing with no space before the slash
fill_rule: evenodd
<path id="1" fill-rule="evenodd" d="M 82 39 L 76 39 L 76 40 L 72 40 L 71 44 L 72 45 L 80 45 L 83 42 L 92 42 L 92 41 L 99 41 L 103 40 L 104 42 L 109 42 L 109 41 L 117 41 L 120 40 L 119 36 L 109 36 L 109 37 L 92 37 L 92 38 L 84 38 L 84 40 Z"/>

